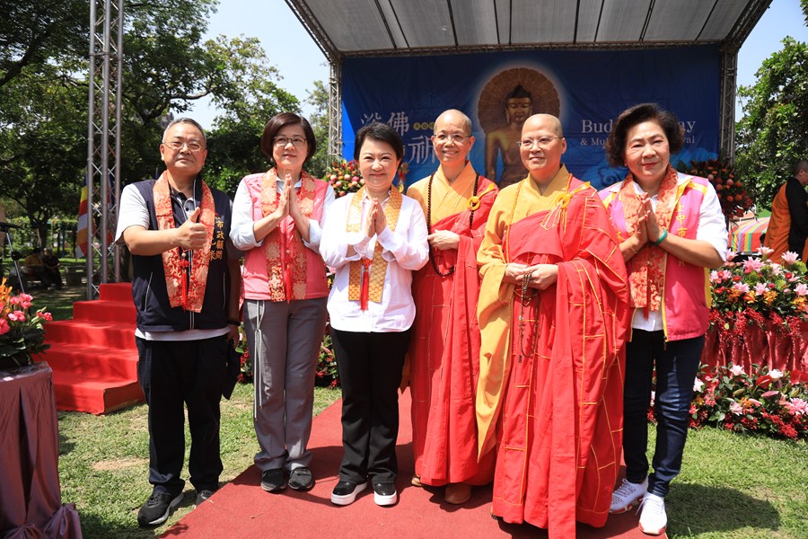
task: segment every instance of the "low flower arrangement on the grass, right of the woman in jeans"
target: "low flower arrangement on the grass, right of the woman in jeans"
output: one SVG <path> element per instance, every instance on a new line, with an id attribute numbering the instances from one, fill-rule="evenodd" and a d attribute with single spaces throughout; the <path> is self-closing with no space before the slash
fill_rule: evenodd
<path id="1" fill-rule="evenodd" d="M 738 433 L 808 439 L 808 376 L 732 363 L 707 370 L 693 384 L 690 428 L 710 425 Z M 654 420 L 652 403 L 648 416 Z"/>

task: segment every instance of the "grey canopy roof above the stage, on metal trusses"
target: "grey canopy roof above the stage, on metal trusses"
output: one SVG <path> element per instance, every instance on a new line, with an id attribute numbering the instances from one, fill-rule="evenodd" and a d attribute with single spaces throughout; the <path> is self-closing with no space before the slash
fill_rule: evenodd
<path id="1" fill-rule="evenodd" d="M 523 48 L 729 52 L 771 0 L 286 0 L 330 61 Z"/>

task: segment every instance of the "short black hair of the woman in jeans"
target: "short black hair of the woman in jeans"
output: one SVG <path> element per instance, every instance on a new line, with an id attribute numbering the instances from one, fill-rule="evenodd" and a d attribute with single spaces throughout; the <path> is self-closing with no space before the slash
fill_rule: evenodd
<path id="1" fill-rule="evenodd" d="M 679 124 L 676 115 L 670 110 L 664 110 L 656 103 L 640 103 L 620 112 L 614 121 L 606 144 L 603 146 L 606 151 L 606 159 L 611 166 L 625 166 L 623 155 L 626 153 L 628 130 L 644 121 L 655 121 L 663 128 L 665 137 L 668 138 L 671 154 L 681 150 L 681 146 L 684 144 L 684 128 Z"/>

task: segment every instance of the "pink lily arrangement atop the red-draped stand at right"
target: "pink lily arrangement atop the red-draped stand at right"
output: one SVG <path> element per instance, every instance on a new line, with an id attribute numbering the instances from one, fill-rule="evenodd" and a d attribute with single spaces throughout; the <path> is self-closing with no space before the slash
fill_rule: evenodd
<path id="1" fill-rule="evenodd" d="M 795 252 L 784 253 L 782 264 L 770 261 L 771 252 L 761 247 L 760 257 L 737 262 L 737 253 L 730 252 L 725 266 L 710 272 L 710 321 L 717 331 L 742 331 L 748 323 L 757 323 L 798 332 L 800 322 L 808 320 L 805 263 Z"/>

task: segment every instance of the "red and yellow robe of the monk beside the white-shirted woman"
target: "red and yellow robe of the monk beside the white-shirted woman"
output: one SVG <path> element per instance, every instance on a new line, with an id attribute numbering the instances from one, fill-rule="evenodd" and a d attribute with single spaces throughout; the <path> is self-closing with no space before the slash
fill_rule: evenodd
<path id="1" fill-rule="evenodd" d="M 470 223 L 469 200 L 476 172 L 470 163 L 452 185 L 441 168 L 432 184 L 432 231 L 460 235 L 457 251 L 432 250 L 441 273 L 426 264 L 413 278 L 416 320 L 410 340 L 412 446 L 415 473 L 421 482 L 441 486 L 466 482 L 487 484 L 494 477 L 494 453 L 477 460 L 477 422 L 474 398 L 479 376 L 477 250 L 488 212 L 496 199 L 496 185 L 479 178 L 479 208 Z M 429 178 L 407 191 L 424 209 Z M 473 201 L 472 201 L 473 202 Z"/>

